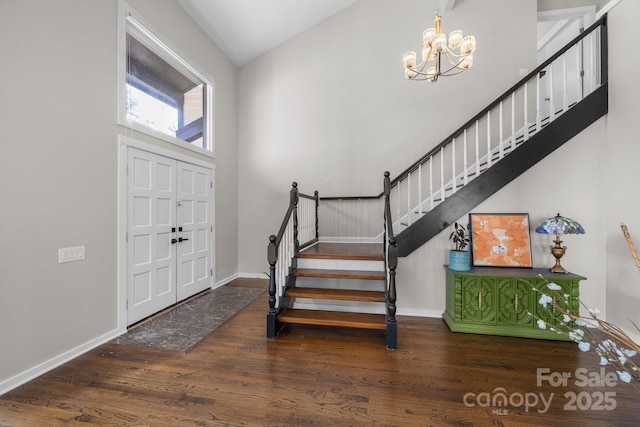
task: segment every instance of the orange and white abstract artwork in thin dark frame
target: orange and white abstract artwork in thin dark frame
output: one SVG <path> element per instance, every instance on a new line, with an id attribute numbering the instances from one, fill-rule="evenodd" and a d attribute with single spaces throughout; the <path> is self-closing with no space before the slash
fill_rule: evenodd
<path id="1" fill-rule="evenodd" d="M 469 214 L 474 267 L 531 268 L 529 214 Z"/>

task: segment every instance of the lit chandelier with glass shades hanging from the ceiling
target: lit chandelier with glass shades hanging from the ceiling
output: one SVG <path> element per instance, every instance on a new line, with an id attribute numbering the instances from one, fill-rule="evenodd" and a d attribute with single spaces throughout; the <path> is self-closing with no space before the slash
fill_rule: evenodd
<path id="1" fill-rule="evenodd" d="M 416 65 L 416 53 L 407 52 L 402 57 L 404 76 L 409 80 L 429 80 L 435 83 L 440 76 L 459 74 L 473 65 L 473 52 L 476 50 L 474 36 L 462 37 L 462 31 L 455 30 L 447 35 L 442 33 L 442 17 L 436 12 L 433 18 L 434 28 L 428 28 L 422 33 L 422 62 Z M 448 63 L 442 69 L 442 56 Z M 431 64 L 427 68 L 427 65 Z M 426 70 L 425 70 L 426 69 Z"/>

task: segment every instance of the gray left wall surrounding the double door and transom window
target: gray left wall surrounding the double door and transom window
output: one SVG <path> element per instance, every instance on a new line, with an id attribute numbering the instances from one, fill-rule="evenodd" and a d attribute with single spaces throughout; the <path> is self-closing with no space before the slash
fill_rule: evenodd
<path id="1" fill-rule="evenodd" d="M 237 272 L 236 69 L 175 1 L 129 4 L 215 79 L 223 280 Z M 118 327 L 116 10 L 116 0 L 0 2 L 0 390 Z M 58 248 L 80 245 L 86 260 L 58 264 Z"/>

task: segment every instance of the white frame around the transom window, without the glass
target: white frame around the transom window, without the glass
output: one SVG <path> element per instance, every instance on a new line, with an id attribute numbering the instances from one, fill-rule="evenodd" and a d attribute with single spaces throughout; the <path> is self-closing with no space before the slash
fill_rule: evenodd
<path id="1" fill-rule="evenodd" d="M 152 129 L 144 124 L 127 118 L 127 34 L 132 34 L 147 48 L 160 56 L 164 61 L 192 79 L 204 84 L 202 112 L 202 138 L 205 148 L 198 147 L 180 138 L 173 137 L 162 131 Z M 142 38 L 143 40 L 140 40 Z M 215 157 L 215 81 L 198 65 L 179 53 L 159 31 L 147 22 L 135 9 L 124 0 L 118 2 L 118 124 L 129 130 L 134 130 L 188 150 Z"/>

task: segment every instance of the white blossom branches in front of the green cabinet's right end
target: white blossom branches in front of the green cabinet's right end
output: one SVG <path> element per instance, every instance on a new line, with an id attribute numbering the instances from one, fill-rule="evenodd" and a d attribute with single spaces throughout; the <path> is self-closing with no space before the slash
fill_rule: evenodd
<path id="1" fill-rule="evenodd" d="M 640 260 L 627 227 L 624 224 L 620 224 L 620 226 L 631 250 L 631 255 L 640 270 Z M 598 317 L 599 310 L 587 307 L 580 298 L 577 298 L 580 306 L 584 307 L 589 315 L 580 316 L 579 312 L 571 312 L 569 309 L 571 307 L 569 304 L 570 296 L 562 292 L 560 285 L 544 280 L 546 289 L 544 286 L 540 289 L 532 286 L 532 289 L 534 292 L 540 293 L 538 303 L 542 307 L 546 309 L 547 306 L 550 306 L 553 321 L 544 320 L 528 312 L 529 316 L 536 319 L 538 327 L 567 335 L 584 352 L 588 352 L 593 347 L 596 354 L 600 356 L 600 365 L 612 366 L 621 381 L 632 383 L 638 389 L 640 387 L 640 368 L 633 357 L 640 353 L 640 345 L 617 325 L 600 319 Z M 640 328 L 633 321 L 630 320 L 630 322 L 637 331 L 640 331 Z"/>

